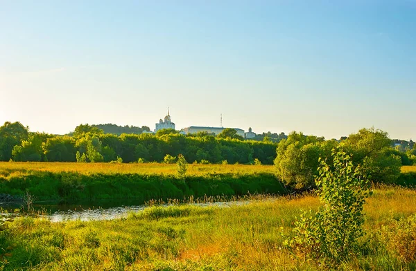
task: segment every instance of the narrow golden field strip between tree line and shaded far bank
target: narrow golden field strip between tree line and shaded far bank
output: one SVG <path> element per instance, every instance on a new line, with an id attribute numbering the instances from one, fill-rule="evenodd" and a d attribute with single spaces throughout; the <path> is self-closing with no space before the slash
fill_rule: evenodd
<path id="1" fill-rule="evenodd" d="M 10 174 L 30 174 L 33 171 L 52 173 L 76 172 L 80 174 L 162 174 L 175 175 L 175 164 L 110 164 L 110 163 L 76 163 L 76 162 L 0 162 L 0 177 Z M 189 164 L 187 174 L 202 176 L 204 174 L 272 174 L 271 165 L 193 165 Z"/>

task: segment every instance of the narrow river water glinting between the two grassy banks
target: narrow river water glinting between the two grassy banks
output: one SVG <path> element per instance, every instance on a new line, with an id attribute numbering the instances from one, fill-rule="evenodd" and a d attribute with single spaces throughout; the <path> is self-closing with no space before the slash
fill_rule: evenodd
<path id="1" fill-rule="evenodd" d="M 187 203 L 197 206 L 230 207 L 232 205 L 244 205 L 248 201 L 214 202 L 214 203 Z M 161 205 L 167 207 L 168 205 Z M 21 208 L 21 204 L 0 204 L 3 210 L 12 213 L 14 209 Z M 96 203 L 83 203 L 80 205 L 58 205 L 56 203 L 36 203 L 34 209 L 43 212 L 41 216 L 49 218 L 52 222 L 62 221 L 101 221 L 116 218 L 125 218 L 130 212 L 141 212 L 146 205 L 134 205 L 114 201 L 100 201 Z M 3 212 L 2 214 L 5 214 Z M 19 214 L 17 214 L 19 216 Z"/>

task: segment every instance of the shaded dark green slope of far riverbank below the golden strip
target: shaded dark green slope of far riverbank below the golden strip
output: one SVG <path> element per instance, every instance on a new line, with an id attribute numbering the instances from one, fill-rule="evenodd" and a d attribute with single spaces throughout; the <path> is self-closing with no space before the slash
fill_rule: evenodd
<path id="1" fill-rule="evenodd" d="M 0 177 L 0 191 L 16 196 L 24 196 L 28 191 L 37 200 L 67 203 L 132 198 L 137 203 L 144 203 L 152 199 L 286 193 L 284 185 L 274 174 L 244 171 L 240 174 L 209 171 L 187 174 L 184 179 L 170 174 L 14 171 Z"/>

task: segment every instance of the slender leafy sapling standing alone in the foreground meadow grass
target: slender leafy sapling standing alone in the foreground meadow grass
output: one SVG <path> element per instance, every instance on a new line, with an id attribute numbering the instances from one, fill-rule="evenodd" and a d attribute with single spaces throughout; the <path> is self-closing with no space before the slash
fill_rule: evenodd
<path id="1" fill-rule="evenodd" d="M 295 238 L 286 245 L 295 252 L 334 268 L 358 253 L 363 236 L 363 205 L 370 181 L 354 167 L 351 156 L 333 149 L 333 165 L 320 159 L 315 179 L 322 206 L 316 214 L 304 212 L 295 222 Z"/>

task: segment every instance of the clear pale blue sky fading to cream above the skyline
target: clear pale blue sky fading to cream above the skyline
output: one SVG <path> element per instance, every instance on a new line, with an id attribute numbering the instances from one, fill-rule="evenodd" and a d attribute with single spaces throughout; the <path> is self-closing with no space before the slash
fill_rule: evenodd
<path id="1" fill-rule="evenodd" d="M 416 139 L 416 0 L 0 0 L 0 125 Z"/>

